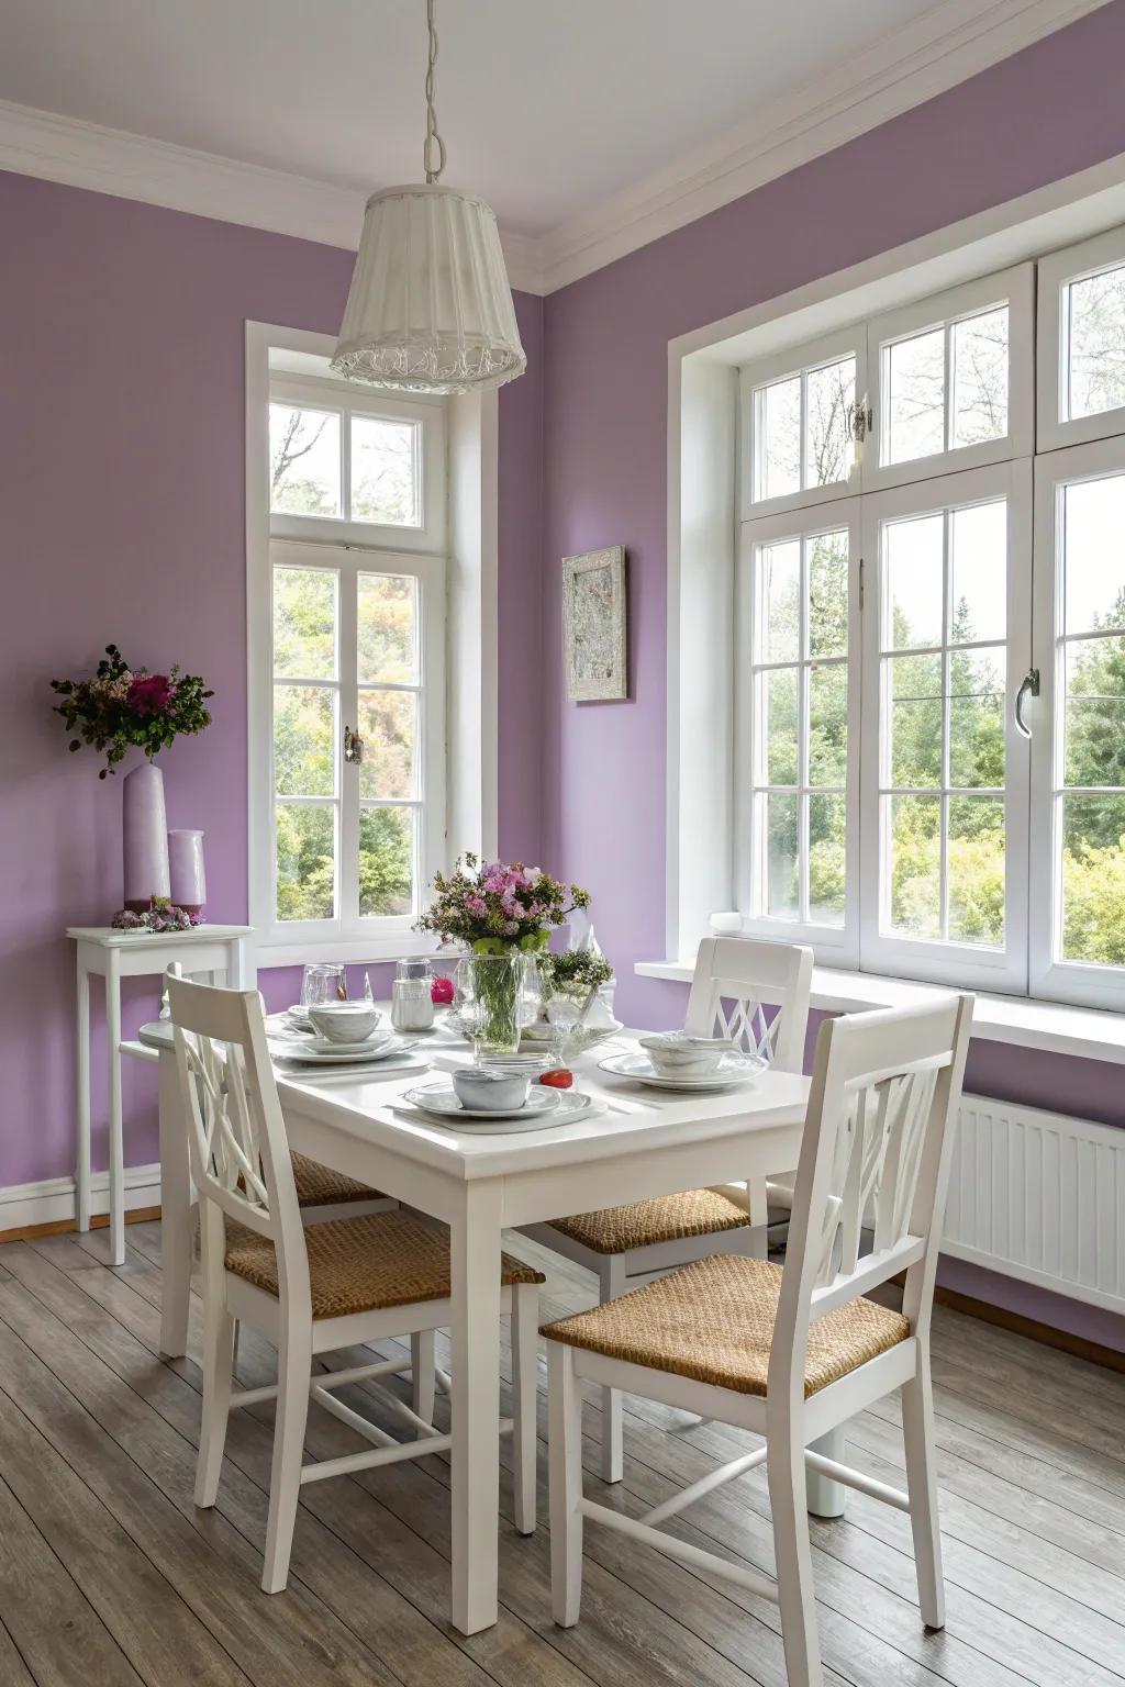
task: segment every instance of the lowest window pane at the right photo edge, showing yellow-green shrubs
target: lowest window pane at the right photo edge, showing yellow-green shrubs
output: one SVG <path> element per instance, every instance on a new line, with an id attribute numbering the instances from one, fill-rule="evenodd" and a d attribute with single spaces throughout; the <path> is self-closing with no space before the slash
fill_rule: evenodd
<path id="1" fill-rule="evenodd" d="M 1125 796 L 1063 800 L 1063 960 L 1125 965 Z"/>

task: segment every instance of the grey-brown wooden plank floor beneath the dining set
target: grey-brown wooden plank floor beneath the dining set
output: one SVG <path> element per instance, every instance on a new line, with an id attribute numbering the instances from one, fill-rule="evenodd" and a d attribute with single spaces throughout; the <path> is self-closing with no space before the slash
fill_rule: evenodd
<path id="1" fill-rule="evenodd" d="M 0 1247 L 0 1687 L 784 1687 L 771 1604 L 594 1527 L 582 1621 L 555 1628 L 546 1527 L 514 1533 L 506 1449 L 496 1628 L 447 1623 L 439 1456 L 309 1486 L 290 1587 L 268 1599 L 272 1414 L 233 1417 L 219 1505 L 196 1512 L 199 1370 L 159 1358 L 159 1223 L 130 1226 L 120 1270 L 105 1232 Z M 548 1272 L 546 1316 L 590 1304 L 582 1272 L 513 1245 Z M 194 1302 L 192 1353 L 199 1334 Z M 272 1380 L 248 1333 L 240 1377 Z M 939 1307 L 934 1383 L 948 1628 L 921 1626 L 907 1518 L 852 1495 L 813 1523 L 828 1680 L 1125 1687 L 1125 1377 Z M 378 1415 L 366 1390 L 344 1397 Z M 587 1402 L 587 1491 L 632 1513 L 751 1444 L 643 1400 L 626 1414 L 626 1478 L 604 1490 Z M 307 1446 L 359 1441 L 314 1407 Z M 896 1399 L 857 1419 L 850 1459 L 901 1483 Z M 678 1527 L 772 1572 L 761 1471 Z"/>

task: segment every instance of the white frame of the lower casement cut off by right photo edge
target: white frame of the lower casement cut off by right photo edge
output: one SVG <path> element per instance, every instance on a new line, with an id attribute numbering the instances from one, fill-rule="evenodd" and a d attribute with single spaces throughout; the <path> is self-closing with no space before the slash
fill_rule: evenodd
<path id="1" fill-rule="evenodd" d="M 1066 722 L 1059 712 L 1059 665 L 1064 646 L 1063 569 L 1059 567 L 1059 489 L 1076 481 L 1125 476 L 1125 439 L 1088 440 L 1036 461 L 1036 663 L 1039 697 L 1031 703 L 1032 811 L 1039 817 L 1031 847 L 1032 906 L 1049 908 L 1049 921 L 1031 930 L 1031 994 L 1081 1007 L 1125 1009 L 1125 967 L 1058 958 L 1063 924 L 1059 860 L 1061 761 Z M 1125 793 L 1122 793 L 1125 795 Z"/>

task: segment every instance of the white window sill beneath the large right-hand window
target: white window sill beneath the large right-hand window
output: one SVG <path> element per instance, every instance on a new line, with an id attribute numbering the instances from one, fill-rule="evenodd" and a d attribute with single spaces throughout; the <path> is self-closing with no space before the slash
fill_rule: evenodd
<path id="1" fill-rule="evenodd" d="M 693 963 L 686 960 L 643 960 L 632 968 L 641 978 L 670 978 L 690 984 Z M 813 967 L 811 1005 L 837 1014 L 865 1007 L 914 1007 L 948 994 L 936 984 L 882 978 L 870 972 Z M 1085 1059 L 1125 1066 L 1125 1014 L 1098 1007 L 1068 1007 L 1037 1002 L 1025 995 L 977 995 L 973 1036 L 985 1043 L 1047 1049 Z"/>

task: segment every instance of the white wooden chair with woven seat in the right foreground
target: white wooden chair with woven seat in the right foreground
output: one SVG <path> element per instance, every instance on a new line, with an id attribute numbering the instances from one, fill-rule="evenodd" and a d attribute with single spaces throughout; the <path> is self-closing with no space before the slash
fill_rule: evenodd
<path id="1" fill-rule="evenodd" d="M 855 1014 L 821 1027 L 784 1270 L 712 1257 L 609 1306 L 550 1324 L 550 1525 L 555 1621 L 579 1620 L 582 1525 L 595 1518 L 781 1606 L 789 1687 L 820 1687 L 806 1466 L 909 1512 L 921 1616 L 945 1625 L 934 1479 L 929 1319 L 973 999 Z M 874 1247 L 860 1253 L 874 1203 Z M 865 1292 L 906 1270 L 902 1312 Z M 766 1436 L 634 1520 L 582 1496 L 582 1390 L 602 1388 Z M 811 1451 L 902 1390 L 907 1493 Z M 757 1571 L 656 1525 L 766 1464 L 778 1562 Z"/>

